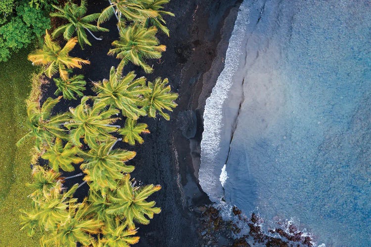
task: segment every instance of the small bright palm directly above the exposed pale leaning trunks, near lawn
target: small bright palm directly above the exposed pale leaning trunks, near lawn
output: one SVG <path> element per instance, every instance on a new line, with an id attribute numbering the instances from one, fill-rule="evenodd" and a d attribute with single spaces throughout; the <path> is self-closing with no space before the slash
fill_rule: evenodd
<path id="1" fill-rule="evenodd" d="M 55 171 L 61 168 L 64 171 L 74 171 L 75 167 L 72 164 L 79 164 L 84 159 L 77 157 L 79 147 L 73 146 L 72 142 L 67 142 L 63 147 L 61 139 L 56 138 L 55 144 L 46 151 L 41 158 L 49 160 L 49 166 Z"/>

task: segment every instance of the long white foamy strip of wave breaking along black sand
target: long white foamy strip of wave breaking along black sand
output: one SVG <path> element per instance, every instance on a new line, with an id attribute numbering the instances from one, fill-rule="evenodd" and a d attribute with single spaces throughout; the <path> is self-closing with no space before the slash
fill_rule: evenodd
<path id="1" fill-rule="evenodd" d="M 216 160 L 216 155 L 220 151 L 222 128 L 222 107 L 228 92 L 232 86 L 232 77 L 237 71 L 238 61 L 241 54 L 242 41 L 244 40 L 246 24 L 248 23 L 247 1 L 241 3 L 238 16 L 234 23 L 232 36 L 229 41 L 225 68 L 219 75 L 218 80 L 206 99 L 204 111 L 204 132 L 201 141 L 201 166 L 199 170 L 199 181 L 204 192 L 211 201 L 218 202 L 223 196 L 222 181 L 217 181 L 216 177 L 221 165 Z M 220 161 L 219 161 L 220 162 Z"/>

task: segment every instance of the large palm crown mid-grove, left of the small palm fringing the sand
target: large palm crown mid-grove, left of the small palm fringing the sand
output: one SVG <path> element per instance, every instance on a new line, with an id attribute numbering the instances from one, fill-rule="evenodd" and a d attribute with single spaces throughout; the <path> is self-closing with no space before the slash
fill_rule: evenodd
<path id="1" fill-rule="evenodd" d="M 95 103 L 90 107 L 87 104 L 88 99 L 84 96 L 80 105 L 76 108 L 70 107 L 72 120 L 64 126 L 70 130 L 70 139 L 75 145 L 80 146 L 80 137 L 84 137 L 84 141 L 90 147 L 94 147 L 96 141 L 113 138 L 109 133 L 116 131 L 120 126 L 111 125 L 119 119 L 112 118 L 112 115 L 118 114 L 119 111 L 113 106 L 106 109 L 104 102 Z"/>

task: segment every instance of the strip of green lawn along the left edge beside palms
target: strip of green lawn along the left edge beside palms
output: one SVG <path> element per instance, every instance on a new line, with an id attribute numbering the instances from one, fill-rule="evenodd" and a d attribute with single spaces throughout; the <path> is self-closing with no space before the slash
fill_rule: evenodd
<path id="1" fill-rule="evenodd" d="M 25 184 L 31 181 L 33 142 L 15 146 L 27 130 L 23 127 L 25 100 L 31 91 L 32 73 L 37 71 L 27 60 L 28 53 L 22 50 L 0 63 L 0 246 L 39 246 L 40 236 L 30 238 L 26 231 L 19 231 L 19 209 L 31 208 L 27 196 L 32 193 Z"/>

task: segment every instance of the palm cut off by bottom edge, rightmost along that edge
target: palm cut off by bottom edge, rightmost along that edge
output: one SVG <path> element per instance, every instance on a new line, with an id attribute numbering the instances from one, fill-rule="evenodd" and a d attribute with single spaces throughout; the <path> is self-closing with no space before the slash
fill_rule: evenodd
<path id="1" fill-rule="evenodd" d="M 130 247 L 130 245 L 137 244 L 139 237 L 134 235 L 137 234 L 138 229 L 128 229 L 127 227 L 127 224 L 120 224 L 118 220 L 106 224 L 102 228 L 103 238 L 99 239 L 99 242 L 105 247 Z"/>

